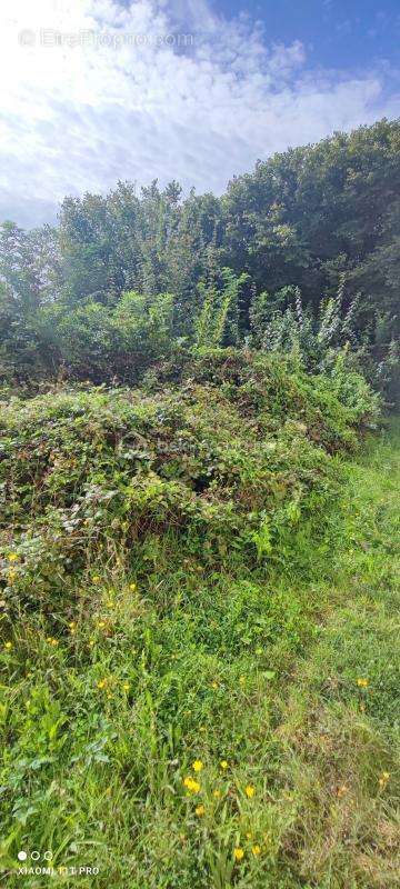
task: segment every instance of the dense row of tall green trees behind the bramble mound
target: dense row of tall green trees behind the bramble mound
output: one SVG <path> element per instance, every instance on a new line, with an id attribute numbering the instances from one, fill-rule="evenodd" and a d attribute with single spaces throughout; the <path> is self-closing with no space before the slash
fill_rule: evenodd
<path id="1" fill-rule="evenodd" d="M 259 161 L 221 198 L 177 182 L 68 197 L 57 227 L 1 228 L 1 373 L 131 383 L 193 346 L 321 370 L 344 347 L 390 390 L 399 257 L 399 121 Z"/>

